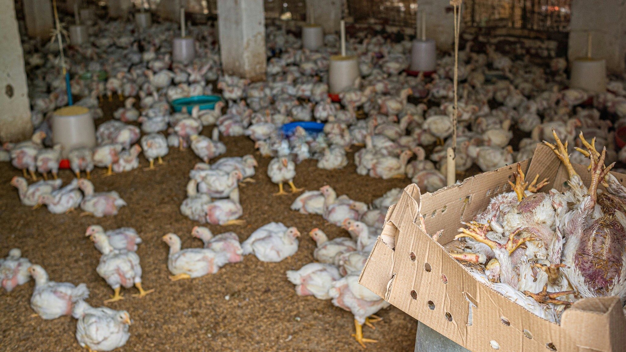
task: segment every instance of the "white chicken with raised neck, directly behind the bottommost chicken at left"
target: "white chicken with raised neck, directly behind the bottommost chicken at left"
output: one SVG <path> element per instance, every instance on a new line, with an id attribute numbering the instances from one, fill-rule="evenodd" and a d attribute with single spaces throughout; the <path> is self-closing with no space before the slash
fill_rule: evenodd
<path id="1" fill-rule="evenodd" d="M 74 303 L 89 297 L 85 284 L 74 286 L 69 282 L 49 281 L 48 273 L 39 265 L 32 265 L 28 272 L 35 281 L 31 308 L 43 319 L 51 320 L 70 315 Z"/>

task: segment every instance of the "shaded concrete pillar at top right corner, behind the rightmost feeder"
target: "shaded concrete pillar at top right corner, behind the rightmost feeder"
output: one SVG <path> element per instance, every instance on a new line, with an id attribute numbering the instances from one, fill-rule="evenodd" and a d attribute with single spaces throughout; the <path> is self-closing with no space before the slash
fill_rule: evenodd
<path id="1" fill-rule="evenodd" d="M 587 56 L 587 33 L 592 33 L 594 58 L 607 60 L 608 73 L 626 69 L 626 1 L 573 0 L 568 58 Z"/>

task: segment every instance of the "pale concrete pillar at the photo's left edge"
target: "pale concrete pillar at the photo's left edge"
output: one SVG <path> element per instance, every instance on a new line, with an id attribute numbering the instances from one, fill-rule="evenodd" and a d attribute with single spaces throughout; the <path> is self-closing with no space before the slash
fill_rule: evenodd
<path id="1" fill-rule="evenodd" d="M 18 142 L 33 134 L 24 53 L 13 0 L 0 0 L 0 141 Z"/>

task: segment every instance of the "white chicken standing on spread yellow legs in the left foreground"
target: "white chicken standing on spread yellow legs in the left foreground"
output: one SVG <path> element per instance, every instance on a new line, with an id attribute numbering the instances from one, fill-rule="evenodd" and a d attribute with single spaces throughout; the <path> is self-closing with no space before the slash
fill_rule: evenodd
<path id="1" fill-rule="evenodd" d="M 111 299 L 107 299 L 105 303 L 124 299 L 120 294 L 121 286 L 128 289 L 135 285 L 139 290 L 139 294 L 135 296 L 140 298 L 154 291 L 154 289 L 144 291 L 143 287 L 141 287 L 141 266 L 139 264 L 139 256 L 135 252 L 128 252 L 125 249 L 120 251 L 113 249 L 109 243 L 109 237 L 102 232 L 96 232 L 90 237 L 91 241 L 94 242 L 102 253 L 96 272 L 106 280 L 106 283 L 115 292 L 114 296 Z"/>

